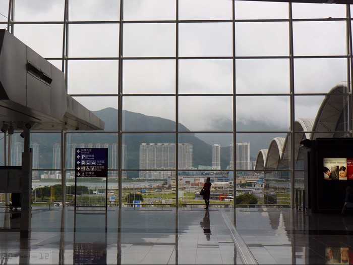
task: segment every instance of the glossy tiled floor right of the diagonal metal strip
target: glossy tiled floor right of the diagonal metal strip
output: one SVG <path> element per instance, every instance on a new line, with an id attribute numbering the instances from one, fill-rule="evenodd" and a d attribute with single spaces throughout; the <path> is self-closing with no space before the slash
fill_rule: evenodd
<path id="1" fill-rule="evenodd" d="M 344 254 L 353 263 L 353 216 L 252 208 L 237 209 L 235 219 L 259 264 L 343 264 Z"/>

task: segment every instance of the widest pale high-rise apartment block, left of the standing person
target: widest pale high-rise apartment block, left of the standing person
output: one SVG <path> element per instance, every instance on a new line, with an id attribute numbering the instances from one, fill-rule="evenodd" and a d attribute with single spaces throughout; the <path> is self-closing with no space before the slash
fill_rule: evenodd
<path id="1" fill-rule="evenodd" d="M 192 169 L 193 145 L 179 144 L 179 169 Z M 140 145 L 140 169 L 175 169 L 174 143 L 142 143 Z M 164 178 L 169 172 L 140 172 L 140 178 Z"/>

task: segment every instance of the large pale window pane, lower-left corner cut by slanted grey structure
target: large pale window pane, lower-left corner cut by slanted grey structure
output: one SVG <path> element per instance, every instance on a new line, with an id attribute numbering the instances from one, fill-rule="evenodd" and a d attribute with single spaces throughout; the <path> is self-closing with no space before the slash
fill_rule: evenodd
<path id="1" fill-rule="evenodd" d="M 16 25 L 15 36 L 44 58 L 63 56 L 63 25 Z"/>

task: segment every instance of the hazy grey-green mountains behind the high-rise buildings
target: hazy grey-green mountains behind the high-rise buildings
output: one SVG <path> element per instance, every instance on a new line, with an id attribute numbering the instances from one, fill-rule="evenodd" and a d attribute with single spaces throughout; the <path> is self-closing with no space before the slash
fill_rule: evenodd
<path id="1" fill-rule="evenodd" d="M 118 112 L 113 108 L 106 108 L 94 112 L 97 117 L 105 122 L 106 131 L 117 131 Z M 221 131 L 221 128 L 229 128 L 230 120 L 218 120 L 212 122 L 216 124 L 215 131 Z M 179 124 L 180 131 L 190 132 L 183 124 Z M 231 128 L 231 127 L 230 127 Z M 237 128 L 242 128 L 244 131 L 256 130 L 280 130 L 282 128 L 273 128 L 273 126 L 265 122 L 259 123 L 242 123 L 237 122 Z M 175 122 L 154 116 L 147 116 L 141 113 L 123 111 L 123 131 L 174 131 Z M 270 141 L 278 135 L 274 134 L 237 134 L 237 142 L 251 143 L 251 160 L 256 160 L 258 151 L 262 148 L 268 148 Z M 193 145 L 193 165 L 211 166 L 212 165 L 212 144 L 221 145 L 221 169 L 226 169 L 230 162 L 230 148 L 232 143 L 232 134 L 179 134 L 180 143 L 190 143 Z M 19 135 L 14 135 L 13 142 L 23 141 Z M 33 134 L 32 142 L 39 143 L 39 168 L 49 169 L 53 167 L 52 152 L 53 144 L 60 143 L 60 134 Z M 68 134 L 68 144 L 70 143 L 117 143 L 117 134 Z M 124 133 L 123 144 L 127 146 L 127 168 L 139 169 L 139 149 L 141 143 L 174 143 L 175 134 L 139 134 L 139 133 Z M 2 154 L 0 154 L 2 156 Z M 1 157 L 0 157 L 1 158 Z M 136 172 L 137 174 L 137 172 Z M 131 174 L 129 174 L 131 175 Z M 133 174 L 135 175 L 135 174 Z"/>

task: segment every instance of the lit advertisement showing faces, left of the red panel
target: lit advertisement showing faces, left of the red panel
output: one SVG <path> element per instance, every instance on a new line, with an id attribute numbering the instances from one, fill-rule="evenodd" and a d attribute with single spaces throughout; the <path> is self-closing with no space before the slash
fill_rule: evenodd
<path id="1" fill-rule="evenodd" d="M 347 158 L 324 158 L 323 172 L 325 180 L 346 180 Z"/>

